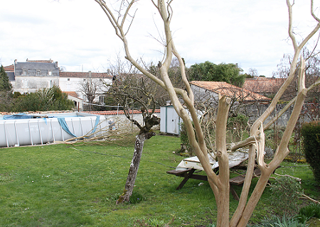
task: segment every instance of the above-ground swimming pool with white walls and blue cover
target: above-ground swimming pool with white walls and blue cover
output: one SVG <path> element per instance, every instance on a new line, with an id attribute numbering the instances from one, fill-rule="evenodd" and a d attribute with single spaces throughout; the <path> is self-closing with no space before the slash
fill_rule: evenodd
<path id="1" fill-rule="evenodd" d="M 0 116 L 0 147 L 43 145 L 102 133 L 105 116 L 93 114 L 15 114 Z M 89 136 L 90 135 L 90 136 Z"/>

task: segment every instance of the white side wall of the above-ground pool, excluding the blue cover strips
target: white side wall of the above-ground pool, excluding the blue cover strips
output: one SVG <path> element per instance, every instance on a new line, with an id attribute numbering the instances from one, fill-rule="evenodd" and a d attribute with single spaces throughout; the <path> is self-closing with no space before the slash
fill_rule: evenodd
<path id="1" fill-rule="evenodd" d="M 80 137 L 92 133 L 96 119 L 97 116 L 73 116 L 65 117 L 65 122 L 70 132 Z M 105 116 L 100 116 L 97 130 L 90 137 L 101 133 L 101 128 L 107 130 L 108 126 Z M 3 120 L 0 121 L 0 133 L 0 147 L 41 145 L 74 138 L 63 130 L 58 118 Z"/>

